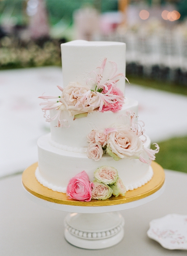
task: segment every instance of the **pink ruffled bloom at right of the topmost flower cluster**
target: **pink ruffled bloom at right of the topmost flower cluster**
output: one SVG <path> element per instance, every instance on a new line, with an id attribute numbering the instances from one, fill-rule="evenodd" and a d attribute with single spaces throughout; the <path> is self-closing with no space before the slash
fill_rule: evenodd
<path id="1" fill-rule="evenodd" d="M 108 90 L 111 89 L 112 85 L 108 85 Z M 105 88 L 103 88 L 102 93 L 107 93 L 108 90 L 106 90 Z M 123 92 L 119 89 L 119 88 L 112 88 L 110 94 L 113 95 L 117 95 L 117 96 L 121 96 L 120 99 L 114 99 L 113 102 L 114 103 L 105 103 L 105 105 L 103 105 L 101 112 L 104 111 L 112 111 L 114 113 L 118 112 L 119 110 L 122 109 L 123 107 L 123 103 L 124 103 L 124 97 L 123 97 Z"/>

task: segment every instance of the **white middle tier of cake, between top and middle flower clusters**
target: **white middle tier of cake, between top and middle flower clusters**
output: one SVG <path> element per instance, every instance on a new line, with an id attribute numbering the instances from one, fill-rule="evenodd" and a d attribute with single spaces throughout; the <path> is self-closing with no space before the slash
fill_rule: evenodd
<path id="1" fill-rule="evenodd" d="M 73 120 L 73 116 L 69 116 L 67 111 L 63 111 L 63 127 L 58 127 L 57 119 L 51 122 L 51 144 L 60 149 L 85 153 L 88 146 L 86 136 L 92 130 L 104 130 L 113 125 L 129 125 L 129 118 L 126 116 L 128 111 L 138 116 L 137 100 L 125 99 L 123 108 L 117 113 L 94 111 L 76 120 Z M 57 112 L 58 110 L 51 110 L 50 117 L 55 116 Z"/>

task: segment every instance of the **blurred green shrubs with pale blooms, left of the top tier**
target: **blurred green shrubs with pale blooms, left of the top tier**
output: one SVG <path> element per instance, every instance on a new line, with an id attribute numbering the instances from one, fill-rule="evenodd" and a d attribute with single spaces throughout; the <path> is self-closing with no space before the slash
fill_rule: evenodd
<path id="1" fill-rule="evenodd" d="M 60 41 L 29 41 L 4 36 L 0 40 L 0 69 L 61 66 Z"/>

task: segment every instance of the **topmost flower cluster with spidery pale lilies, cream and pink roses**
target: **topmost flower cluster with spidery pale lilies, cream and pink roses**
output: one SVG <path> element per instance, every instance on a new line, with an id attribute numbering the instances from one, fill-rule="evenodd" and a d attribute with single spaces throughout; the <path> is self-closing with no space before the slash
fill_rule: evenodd
<path id="1" fill-rule="evenodd" d="M 62 119 L 62 112 L 68 111 L 70 116 L 74 119 L 87 116 L 93 111 L 112 111 L 114 113 L 122 109 L 124 103 L 123 92 L 117 88 L 117 82 L 120 77 L 125 77 L 123 73 L 117 73 L 117 65 L 115 62 L 111 63 L 110 77 L 104 81 L 102 76 L 105 69 L 107 58 L 103 60 L 101 66 L 96 68 L 98 72 L 92 71 L 95 78 L 88 78 L 86 86 L 78 82 L 70 82 L 65 88 L 57 86 L 62 92 L 61 96 L 40 96 L 39 98 L 46 100 L 40 103 L 44 106 L 44 117 L 47 122 L 51 122 L 58 118 L 58 127 L 64 126 Z M 128 79 L 125 77 L 128 81 Z M 92 88 L 88 84 L 92 83 Z M 51 101 L 51 99 L 58 99 Z M 49 117 L 46 114 L 47 110 L 56 109 L 57 114 Z"/>

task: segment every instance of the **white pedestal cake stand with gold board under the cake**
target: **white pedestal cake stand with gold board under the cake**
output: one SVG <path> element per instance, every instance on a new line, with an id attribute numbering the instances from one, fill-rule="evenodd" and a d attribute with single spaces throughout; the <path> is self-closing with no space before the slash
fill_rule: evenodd
<path id="1" fill-rule="evenodd" d="M 164 171 L 153 162 L 153 178 L 144 186 L 127 191 L 125 196 L 107 200 L 80 202 L 68 199 L 65 194 L 43 187 L 35 178 L 37 163 L 22 175 L 26 196 L 37 204 L 69 213 L 64 220 L 66 240 L 85 249 L 102 249 L 123 239 L 124 219 L 118 211 L 146 204 L 164 191 Z"/>

